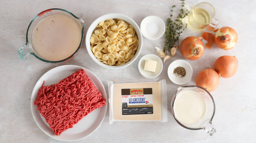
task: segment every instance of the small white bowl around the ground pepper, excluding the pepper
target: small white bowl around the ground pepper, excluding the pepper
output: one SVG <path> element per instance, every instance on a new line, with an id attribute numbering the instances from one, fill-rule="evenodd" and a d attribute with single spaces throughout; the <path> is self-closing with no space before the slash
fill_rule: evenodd
<path id="1" fill-rule="evenodd" d="M 186 75 L 184 77 L 177 77 L 173 73 L 173 70 L 179 66 L 183 67 L 186 70 Z M 193 74 L 193 70 L 188 62 L 186 62 L 184 60 L 175 60 L 169 65 L 167 73 L 168 73 L 169 79 L 173 83 L 175 83 L 177 85 L 183 85 L 190 81 L 192 74 Z"/>

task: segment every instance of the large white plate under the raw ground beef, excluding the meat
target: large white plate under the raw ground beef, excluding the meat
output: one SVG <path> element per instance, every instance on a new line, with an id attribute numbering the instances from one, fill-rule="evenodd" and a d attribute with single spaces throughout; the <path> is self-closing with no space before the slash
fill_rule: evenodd
<path id="1" fill-rule="evenodd" d="M 95 109 L 93 112 L 85 116 L 83 119 L 78 121 L 73 128 L 70 128 L 57 136 L 54 134 L 53 130 L 49 127 L 49 124 L 46 122 L 44 117 L 39 113 L 37 106 L 34 105 L 34 101 L 37 99 L 37 92 L 40 87 L 42 87 L 43 81 L 45 81 L 45 86 L 50 86 L 51 84 L 58 83 L 61 79 L 64 79 L 71 75 L 72 73 L 84 69 L 86 74 L 93 81 L 97 89 L 101 92 L 102 97 L 106 99 L 106 104 L 98 109 Z M 47 71 L 35 84 L 35 87 L 32 91 L 31 96 L 31 111 L 33 118 L 37 126 L 46 134 L 51 136 L 54 139 L 61 141 L 76 141 L 83 139 L 86 136 L 92 134 L 102 123 L 106 112 L 107 112 L 107 94 L 105 88 L 98 77 L 91 71 L 75 65 L 63 65 Z"/>

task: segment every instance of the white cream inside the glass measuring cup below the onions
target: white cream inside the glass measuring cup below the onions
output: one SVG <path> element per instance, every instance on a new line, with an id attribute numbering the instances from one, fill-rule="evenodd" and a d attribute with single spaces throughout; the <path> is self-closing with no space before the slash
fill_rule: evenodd
<path id="1" fill-rule="evenodd" d="M 194 124 L 203 118 L 206 104 L 200 93 L 185 90 L 176 96 L 173 110 L 177 119 L 187 124 Z"/>

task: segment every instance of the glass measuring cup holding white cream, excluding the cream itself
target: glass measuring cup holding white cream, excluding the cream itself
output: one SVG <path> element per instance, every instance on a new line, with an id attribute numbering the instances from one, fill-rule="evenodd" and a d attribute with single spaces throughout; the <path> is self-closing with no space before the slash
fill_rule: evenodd
<path id="1" fill-rule="evenodd" d="M 202 97 L 202 101 L 205 102 L 205 113 L 202 116 L 202 118 L 199 119 L 197 122 L 193 122 L 193 123 L 188 123 L 187 122 L 186 123 L 186 122 L 183 122 L 184 119 L 183 119 L 183 121 L 181 121 L 182 119 L 179 119 L 179 117 L 177 117 L 177 115 L 175 114 L 176 110 L 178 111 L 178 109 L 175 109 L 175 108 L 177 108 L 178 106 L 174 106 L 174 104 L 175 104 L 175 101 L 176 101 L 177 97 L 179 95 L 181 95 L 182 92 L 183 93 L 185 93 L 184 91 L 189 91 L 190 92 L 191 90 L 193 92 L 194 91 L 197 92 L 197 94 Z M 188 93 L 188 92 L 186 92 L 186 93 Z M 188 95 L 188 96 L 191 96 L 191 95 Z M 188 102 L 193 102 L 193 101 L 189 100 Z M 198 103 L 196 103 L 196 104 L 198 104 Z M 191 108 L 193 108 L 193 107 L 191 107 Z M 186 110 L 186 109 L 185 108 L 182 109 L 182 111 L 184 111 L 184 110 Z M 171 111 L 172 111 L 174 119 L 184 128 L 187 128 L 187 129 L 190 129 L 190 130 L 204 129 L 207 133 L 209 133 L 209 135 L 213 135 L 216 132 L 214 126 L 212 125 L 212 119 L 213 119 L 213 116 L 214 116 L 214 113 L 215 113 L 215 103 L 214 103 L 214 100 L 213 100 L 213 97 L 211 96 L 211 94 L 206 89 L 204 89 L 203 87 L 199 87 L 199 86 L 179 87 L 177 89 L 176 93 L 174 94 L 173 98 L 172 98 Z"/>

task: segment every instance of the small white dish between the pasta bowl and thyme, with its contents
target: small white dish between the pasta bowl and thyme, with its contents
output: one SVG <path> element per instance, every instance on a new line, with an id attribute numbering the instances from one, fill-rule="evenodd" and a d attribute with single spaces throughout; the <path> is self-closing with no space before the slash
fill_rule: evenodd
<path id="1" fill-rule="evenodd" d="M 147 39 L 156 40 L 163 35 L 165 24 L 160 17 L 151 15 L 141 21 L 140 30 L 142 35 Z"/>

